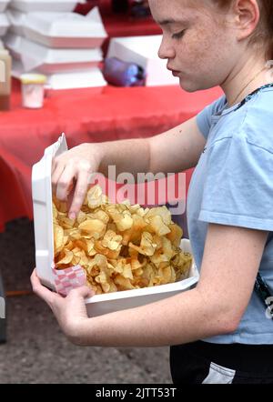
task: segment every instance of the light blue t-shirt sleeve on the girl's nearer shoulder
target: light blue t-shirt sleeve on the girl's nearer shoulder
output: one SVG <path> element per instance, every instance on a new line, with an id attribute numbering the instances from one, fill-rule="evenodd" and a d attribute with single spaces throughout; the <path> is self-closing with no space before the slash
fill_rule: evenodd
<path id="1" fill-rule="evenodd" d="M 272 150 L 240 133 L 217 140 L 207 153 L 199 220 L 272 231 Z"/>

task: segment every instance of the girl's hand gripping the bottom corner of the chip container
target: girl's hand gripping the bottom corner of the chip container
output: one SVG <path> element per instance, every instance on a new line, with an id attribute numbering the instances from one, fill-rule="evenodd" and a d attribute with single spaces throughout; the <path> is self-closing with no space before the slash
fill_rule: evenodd
<path id="1" fill-rule="evenodd" d="M 36 270 L 32 273 L 31 284 L 35 294 L 52 309 L 66 337 L 76 345 L 83 345 L 81 328 L 90 319 L 86 313 L 85 298 L 94 296 L 94 292 L 88 286 L 81 286 L 71 290 L 66 297 L 60 296 L 41 284 Z"/>

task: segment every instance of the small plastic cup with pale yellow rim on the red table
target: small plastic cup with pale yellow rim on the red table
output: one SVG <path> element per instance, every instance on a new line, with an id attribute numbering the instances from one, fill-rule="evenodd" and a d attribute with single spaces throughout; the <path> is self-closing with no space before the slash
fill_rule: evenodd
<path id="1" fill-rule="evenodd" d="M 46 76 L 42 74 L 21 75 L 22 105 L 30 109 L 44 106 Z"/>

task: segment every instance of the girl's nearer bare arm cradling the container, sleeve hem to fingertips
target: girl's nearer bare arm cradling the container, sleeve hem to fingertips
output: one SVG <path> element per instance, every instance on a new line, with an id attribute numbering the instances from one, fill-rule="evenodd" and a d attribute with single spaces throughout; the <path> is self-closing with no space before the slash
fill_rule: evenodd
<path id="1" fill-rule="evenodd" d="M 100 317 L 86 317 L 86 287 L 63 298 L 41 286 L 35 273 L 32 283 L 35 293 L 52 308 L 66 336 L 77 345 L 184 344 L 237 329 L 253 292 L 267 237 L 268 232 L 210 224 L 195 289 Z"/>

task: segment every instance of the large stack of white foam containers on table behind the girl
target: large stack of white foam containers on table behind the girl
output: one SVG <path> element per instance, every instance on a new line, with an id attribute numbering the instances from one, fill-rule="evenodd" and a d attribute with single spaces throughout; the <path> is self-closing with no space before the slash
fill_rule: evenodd
<path id="1" fill-rule="evenodd" d="M 0 0 L 1 2 L 1 0 Z M 42 73 L 53 89 L 102 87 L 99 68 L 106 39 L 98 7 L 73 13 L 75 0 L 11 0 L 5 46 L 13 55 L 13 75 Z"/>

